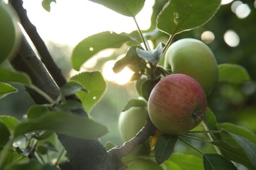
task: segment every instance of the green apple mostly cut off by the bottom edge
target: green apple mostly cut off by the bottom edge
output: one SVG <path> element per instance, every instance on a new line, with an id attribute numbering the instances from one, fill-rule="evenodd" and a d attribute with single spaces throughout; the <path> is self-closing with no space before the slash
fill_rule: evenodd
<path id="1" fill-rule="evenodd" d="M 139 159 L 131 163 L 126 170 L 163 170 L 163 168 L 152 160 Z"/>

